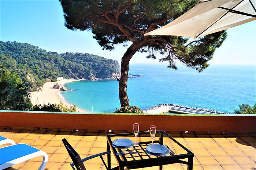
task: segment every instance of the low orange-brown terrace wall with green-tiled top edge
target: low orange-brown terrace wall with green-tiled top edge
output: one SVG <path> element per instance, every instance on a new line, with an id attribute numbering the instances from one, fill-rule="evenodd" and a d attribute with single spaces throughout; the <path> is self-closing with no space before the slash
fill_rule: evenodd
<path id="1" fill-rule="evenodd" d="M 149 125 L 165 131 L 255 132 L 256 115 L 201 114 L 130 114 L 130 113 L 66 113 L 0 111 L 2 127 L 41 127 L 63 129 L 131 130 L 140 123 L 140 130 Z"/>

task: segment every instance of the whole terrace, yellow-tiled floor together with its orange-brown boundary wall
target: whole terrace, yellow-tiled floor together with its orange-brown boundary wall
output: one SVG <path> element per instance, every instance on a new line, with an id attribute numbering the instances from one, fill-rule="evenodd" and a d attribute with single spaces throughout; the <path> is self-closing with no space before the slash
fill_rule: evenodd
<path id="1" fill-rule="evenodd" d="M 18 119 L 17 119 L 18 117 Z M 132 132 L 132 123 L 140 123 L 141 131 L 154 124 L 168 132 L 191 150 L 193 169 L 255 169 L 256 132 L 255 115 L 168 115 L 168 114 L 69 114 L 51 112 L 1 111 L 0 135 L 26 143 L 48 154 L 46 169 L 71 169 L 71 159 L 61 139 L 66 138 L 82 158 L 107 150 L 108 130 L 114 133 Z M 117 121 L 118 120 L 118 121 Z M 230 123 L 232 122 L 232 123 Z M 39 130 L 40 127 L 40 130 Z M 222 135 L 222 131 L 226 135 Z M 189 134 L 185 134 L 189 131 Z M 129 138 L 135 140 L 135 138 Z M 140 141 L 151 140 L 140 136 Z M 138 139 L 137 139 L 138 140 Z M 181 154 L 181 148 L 165 140 L 172 151 Z M 3 146 L 1 146 L 3 147 Z M 105 156 L 104 160 L 107 160 Z M 22 162 L 9 169 L 37 169 L 42 158 Z M 117 166 L 114 155 L 112 167 Z M 86 161 L 86 169 L 105 169 L 100 158 Z M 181 163 L 163 166 L 163 169 L 186 169 Z M 158 167 L 144 168 L 158 169 Z M 144 170 L 143 169 L 143 170 Z"/>

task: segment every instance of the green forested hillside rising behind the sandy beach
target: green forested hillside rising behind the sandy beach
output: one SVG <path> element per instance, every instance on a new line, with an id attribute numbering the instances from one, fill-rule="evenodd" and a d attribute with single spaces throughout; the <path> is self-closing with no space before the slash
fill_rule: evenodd
<path id="1" fill-rule="evenodd" d="M 28 43 L 0 41 L 0 73 L 6 69 L 17 73 L 30 91 L 60 76 L 94 80 L 120 74 L 118 61 L 112 59 L 88 53 L 58 54 Z"/>

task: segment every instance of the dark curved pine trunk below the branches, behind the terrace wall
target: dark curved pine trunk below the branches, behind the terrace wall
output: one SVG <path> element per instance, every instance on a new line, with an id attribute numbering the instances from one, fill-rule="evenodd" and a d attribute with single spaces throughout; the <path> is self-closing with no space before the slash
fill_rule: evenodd
<path id="1" fill-rule="evenodd" d="M 121 77 L 119 80 L 119 100 L 121 107 L 129 106 L 129 98 L 127 96 L 127 80 L 129 72 L 129 62 L 133 55 L 140 49 L 141 42 L 134 42 L 125 52 L 121 61 Z"/>

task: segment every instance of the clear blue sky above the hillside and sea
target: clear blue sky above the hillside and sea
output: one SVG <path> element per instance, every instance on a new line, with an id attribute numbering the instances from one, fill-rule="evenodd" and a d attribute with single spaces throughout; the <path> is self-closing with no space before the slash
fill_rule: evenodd
<path id="1" fill-rule="evenodd" d="M 127 47 L 102 50 L 92 33 L 71 31 L 64 27 L 62 7 L 57 0 L 0 0 L 0 40 L 29 43 L 57 53 L 92 53 L 118 60 Z M 230 28 L 210 64 L 256 64 L 256 22 Z M 159 63 L 136 53 L 130 63 Z"/>

